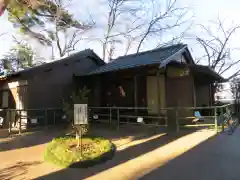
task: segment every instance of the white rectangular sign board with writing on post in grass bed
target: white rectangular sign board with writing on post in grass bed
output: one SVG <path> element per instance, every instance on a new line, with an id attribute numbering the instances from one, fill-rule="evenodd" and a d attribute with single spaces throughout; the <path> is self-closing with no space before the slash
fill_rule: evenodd
<path id="1" fill-rule="evenodd" d="M 74 124 L 88 124 L 87 104 L 74 104 Z"/>

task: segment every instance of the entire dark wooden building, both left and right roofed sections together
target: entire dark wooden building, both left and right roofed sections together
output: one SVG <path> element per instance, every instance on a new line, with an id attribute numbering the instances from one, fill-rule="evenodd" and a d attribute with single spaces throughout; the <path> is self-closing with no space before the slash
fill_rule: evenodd
<path id="1" fill-rule="evenodd" d="M 107 64 L 85 50 L 2 78 L 0 107 L 61 108 L 73 89 L 87 86 L 89 106 L 142 107 L 145 114 L 171 119 L 173 113 L 164 108 L 211 106 L 211 87 L 219 81 L 224 79 L 212 69 L 195 64 L 184 44 L 122 56 Z M 192 115 L 186 110 L 179 113 Z"/>

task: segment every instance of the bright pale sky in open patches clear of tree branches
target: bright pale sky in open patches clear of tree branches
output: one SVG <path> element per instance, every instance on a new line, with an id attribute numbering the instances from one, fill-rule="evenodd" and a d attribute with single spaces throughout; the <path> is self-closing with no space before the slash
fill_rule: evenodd
<path id="1" fill-rule="evenodd" d="M 97 17 L 98 19 L 96 21 L 100 22 L 101 24 L 106 15 L 104 15 L 106 9 L 104 6 L 102 6 L 101 1 L 102 0 L 81 1 L 79 6 L 86 10 L 85 14 L 83 14 L 76 5 L 77 0 L 75 0 L 74 5 L 69 5 L 71 6 L 69 8 L 71 8 L 72 12 L 75 14 L 80 13 L 81 16 L 89 16 L 91 14 L 92 17 Z M 191 16 L 194 15 L 192 18 L 192 26 L 189 31 L 190 34 L 201 34 L 198 26 L 199 24 L 208 26 L 210 25 L 209 21 L 215 21 L 218 18 L 224 20 L 224 24 L 227 28 L 231 27 L 233 24 L 240 24 L 240 1 L 238 0 L 177 0 L 177 4 L 181 7 L 188 7 L 189 11 L 191 12 Z M 175 31 L 177 32 L 179 29 L 175 29 Z M 0 57 L 6 54 L 12 47 L 12 35 L 15 35 L 16 32 L 17 30 L 13 28 L 10 22 L 8 22 L 7 12 L 5 12 L 4 15 L 0 17 L 0 34 L 6 33 L 0 37 Z M 240 47 L 240 44 L 238 44 L 239 38 L 240 32 L 235 34 L 232 42 L 233 47 Z M 199 49 L 199 46 L 192 39 L 184 39 L 183 43 L 188 44 L 190 50 L 192 51 L 193 57 L 197 57 L 202 53 L 201 49 Z M 150 47 L 150 44 L 152 44 L 151 41 L 149 43 L 145 43 L 144 49 L 151 49 L 152 47 Z M 46 48 L 38 45 L 35 45 L 34 48 L 39 56 L 44 54 L 44 56 L 48 58 L 46 55 L 49 54 L 49 50 L 47 51 Z M 92 42 L 84 44 L 79 47 L 79 50 L 87 48 L 93 49 L 101 57 L 102 50 L 98 43 Z M 118 48 L 116 56 L 122 55 L 122 51 L 123 49 Z M 240 51 L 234 52 L 233 56 L 234 58 L 240 57 Z"/>

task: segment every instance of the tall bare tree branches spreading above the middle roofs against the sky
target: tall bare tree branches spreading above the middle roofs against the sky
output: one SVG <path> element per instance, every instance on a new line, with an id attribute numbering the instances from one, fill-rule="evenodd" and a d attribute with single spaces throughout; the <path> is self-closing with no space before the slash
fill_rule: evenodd
<path id="1" fill-rule="evenodd" d="M 126 55 L 132 48 L 137 48 L 139 52 L 149 37 L 158 37 L 158 42 L 162 33 L 170 32 L 185 23 L 183 17 L 188 12 L 187 8 L 175 7 L 176 0 L 152 0 L 152 7 L 149 6 L 149 2 L 138 3 L 137 0 L 107 2 L 109 11 L 104 37 L 97 39 L 102 47 L 103 60 L 111 59 L 118 45 L 125 47 L 123 54 Z M 177 41 L 178 38 L 172 38 L 169 43 Z"/>

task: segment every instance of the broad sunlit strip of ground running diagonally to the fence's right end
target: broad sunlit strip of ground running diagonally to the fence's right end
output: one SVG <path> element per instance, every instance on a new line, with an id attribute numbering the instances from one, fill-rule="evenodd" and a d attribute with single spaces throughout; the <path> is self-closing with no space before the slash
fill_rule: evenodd
<path id="1" fill-rule="evenodd" d="M 213 131 L 194 132 L 184 135 L 183 137 L 169 142 L 166 145 L 157 147 L 153 151 L 131 159 L 125 163 L 108 169 L 88 179 L 139 179 L 151 173 L 152 171 L 161 168 L 174 158 L 177 158 L 182 154 L 187 153 L 187 151 L 199 145 L 200 143 L 203 143 L 214 135 L 215 132 Z M 168 173 L 172 174 L 172 172 L 172 170 L 169 170 Z M 157 175 L 151 177 L 150 179 L 160 178 Z M 179 180 L 179 178 L 177 179 Z"/>

